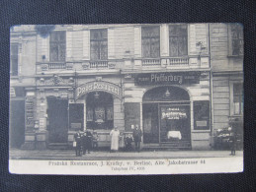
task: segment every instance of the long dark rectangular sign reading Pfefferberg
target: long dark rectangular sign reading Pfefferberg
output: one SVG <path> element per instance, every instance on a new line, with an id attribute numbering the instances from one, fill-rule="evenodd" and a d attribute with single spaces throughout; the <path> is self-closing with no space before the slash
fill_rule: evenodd
<path id="1" fill-rule="evenodd" d="M 199 84 L 200 72 L 145 73 L 135 77 L 135 85 L 182 85 Z"/>

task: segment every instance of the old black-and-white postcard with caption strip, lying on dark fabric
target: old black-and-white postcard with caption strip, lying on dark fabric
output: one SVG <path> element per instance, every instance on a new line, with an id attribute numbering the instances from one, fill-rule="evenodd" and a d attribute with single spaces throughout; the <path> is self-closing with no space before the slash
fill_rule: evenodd
<path id="1" fill-rule="evenodd" d="M 9 171 L 243 171 L 243 26 L 10 29 Z"/>

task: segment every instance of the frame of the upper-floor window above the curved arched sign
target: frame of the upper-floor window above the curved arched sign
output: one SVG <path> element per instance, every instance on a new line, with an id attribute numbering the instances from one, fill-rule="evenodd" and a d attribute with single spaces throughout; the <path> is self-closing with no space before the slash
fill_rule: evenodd
<path id="1" fill-rule="evenodd" d="M 106 37 L 104 38 L 104 37 L 102 37 L 102 38 L 98 38 L 98 39 L 94 39 L 94 38 L 92 38 L 92 32 L 100 32 L 101 33 L 101 36 L 103 36 L 103 33 L 102 32 L 106 32 Z M 90 60 L 93 60 L 93 61 L 106 61 L 106 60 L 108 60 L 108 58 L 109 58 L 109 38 L 108 38 L 108 29 L 94 29 L 94 30 L 90 30 Z M 92 45 L 92 43 L 94 43 L 94 42 L 98 42 L 98 44 L 97 44 L 97 55 L 98 55 L 98 57 L 97 58 L 95 58 L 94 56 L 92 56 L 93 55 L 93 53 L 92 53 L 92 47 L 93 47 L 93 45 Z M 104 45 L 104 43 L 106 43 L 105 44 L 105 46 L 102 46 L 102 45 Z M 104 48 L 106 48 L 106 50 L 105 50 L 105 55 L 106 56 L 102 56 L 102 55 L 104 55 L 104 54 L 102 54 L 102 50 L 104 50 Z"/>

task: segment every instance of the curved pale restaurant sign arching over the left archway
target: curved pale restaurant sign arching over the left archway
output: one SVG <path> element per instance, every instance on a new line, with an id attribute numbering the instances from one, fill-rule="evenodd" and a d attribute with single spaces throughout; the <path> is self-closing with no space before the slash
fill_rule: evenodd
<path id="1" fill-rule="evenodd" d="M 107 92 L 117 97 L 122 97 L 122 89 L 109 82 L 89 82 L 76 89 L 76 99 L 90 92 Z"/>

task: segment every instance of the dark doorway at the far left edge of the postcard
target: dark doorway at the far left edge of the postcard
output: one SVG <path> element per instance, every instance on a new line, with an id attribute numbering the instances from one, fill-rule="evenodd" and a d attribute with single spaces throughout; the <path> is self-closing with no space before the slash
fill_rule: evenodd
<path id="1" fill-rule="evenodd" d="M 20 148 L 25 139 L 25 100 L 10 100 L 10 147 Z"/>

